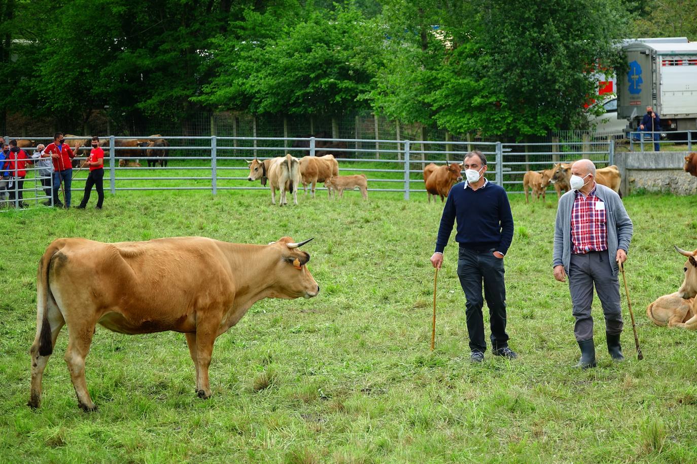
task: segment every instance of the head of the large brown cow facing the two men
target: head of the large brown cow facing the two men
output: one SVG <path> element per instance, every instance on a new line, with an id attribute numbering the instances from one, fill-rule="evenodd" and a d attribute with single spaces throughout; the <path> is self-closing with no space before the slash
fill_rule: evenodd
<path id="1" fill-rule="evenodd" d="M 312 298 L 319 294 L 319 285 L 307 269 L 309 253 L 298 249 L 310 240 L 296 243 L 291 237 L 283 237 L 268 244 L 278 253 L 273 286 L 275 298 Z"/>

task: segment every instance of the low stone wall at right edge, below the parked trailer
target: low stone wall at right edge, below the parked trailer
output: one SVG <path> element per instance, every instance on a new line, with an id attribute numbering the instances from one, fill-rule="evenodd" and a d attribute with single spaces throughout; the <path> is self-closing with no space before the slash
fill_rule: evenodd
<path id="1" fill-rule="evenodd" d="M 620 169 L 620 191 L 627 195 L 637 189 L 650 192 L 697 194 L 697 177 L 683 169 L 688 152 L 620 152 L 615 164 Z"/>

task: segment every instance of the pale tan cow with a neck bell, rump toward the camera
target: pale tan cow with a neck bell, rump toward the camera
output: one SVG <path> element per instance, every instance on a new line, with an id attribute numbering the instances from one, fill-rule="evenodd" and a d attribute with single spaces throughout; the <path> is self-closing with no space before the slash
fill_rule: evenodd
<path id="1" fill-rule="evenodd" d="M 293 202 L 298 205 L 298 186 L 300 185 L 300 162 L 297 158 L 286 154 L 285 157 L 276 157 L 259 161 L 253 159 L 247 161 L 250 166 L 250 175 L 247 180 L 252 182 L 261 179 L 261 185 L 266 186 L 268 179 L 271 188 L 271 204 L 276 204 L 276 189 L 281 191 L 279 206 L 287 205 L 286 191 L 293 193 Z"/>

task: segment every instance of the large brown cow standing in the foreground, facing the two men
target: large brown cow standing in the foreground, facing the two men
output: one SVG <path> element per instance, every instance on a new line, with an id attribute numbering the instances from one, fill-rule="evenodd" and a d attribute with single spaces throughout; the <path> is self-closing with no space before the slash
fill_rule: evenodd
<path id="1" fill-rule="evenodd" d="M 184 333 L 196 367 L 197 394 L 210 397 L 208 366 L 216 337 L 263 298 L 312 298 L 319 293 L 305 266 L 309 255 L 298 250 L 307 241 L 283 237 L 262 246 L 205 237 L 121 243 L 54 240 L 36 276 L 29 406 L 40 405 L 43 371 L 64 324 L 65 358 L 82 409 L 97 408 L 85 381 L 85 357 L 96 324 L 125 334 Z"/>

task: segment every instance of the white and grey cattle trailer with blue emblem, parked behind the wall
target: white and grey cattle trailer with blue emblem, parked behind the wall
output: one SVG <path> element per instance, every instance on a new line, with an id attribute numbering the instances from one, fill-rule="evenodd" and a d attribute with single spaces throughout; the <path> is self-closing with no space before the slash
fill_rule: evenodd
<path id="1" fill-rule="evenodd" d="M 646 106 L 664 131 L 697 129 L 697 42 L 626 40 L 629 67 L 618 76 L 618 116 L 638 127 Z"/>

